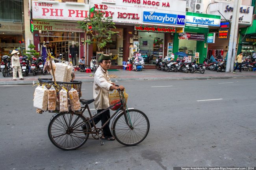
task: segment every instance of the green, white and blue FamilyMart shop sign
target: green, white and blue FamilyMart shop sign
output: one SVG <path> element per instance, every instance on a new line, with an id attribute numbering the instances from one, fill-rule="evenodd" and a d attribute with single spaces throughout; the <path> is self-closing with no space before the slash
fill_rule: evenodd
<path id="1" fill-rule="evenodd" d="M 220 26 L 221 16 L 187 12 L 186 24 L 198 26 Z"/>

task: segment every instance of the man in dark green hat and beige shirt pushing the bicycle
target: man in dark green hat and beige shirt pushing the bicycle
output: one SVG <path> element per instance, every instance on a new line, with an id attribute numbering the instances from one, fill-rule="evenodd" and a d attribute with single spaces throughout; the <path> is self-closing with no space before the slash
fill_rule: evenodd
<path id="1" fill-rule="evenodd" d="M 124 87 L 121 85 L 119 87 L 115 86 L 115 83 L 112 83 L 108 76 L 108 69 L 111 66 L 111 54 L 102 54 L 99 58 L 100 66 L 97 68 L 94 75 L 93 83 L 93 98 L 95 100 L 94 107 L 97 110 L 97 113 L 100 113 L 104 109 L 107 109 L 109 105 L 109 96 L 108 92 L 113 91 L 114 89 L 124 90 Z M 94 118 L 95 124 L 101 120 L 101 125 L 104 125 L 105 122 L 110 118 L 109 109 L 102 113 L 101 115 Z M 112 136 L 109 129 L 109 122 L 103 128 L 103 137 L 102 139 L 106 140 L 115 140 Z"/>

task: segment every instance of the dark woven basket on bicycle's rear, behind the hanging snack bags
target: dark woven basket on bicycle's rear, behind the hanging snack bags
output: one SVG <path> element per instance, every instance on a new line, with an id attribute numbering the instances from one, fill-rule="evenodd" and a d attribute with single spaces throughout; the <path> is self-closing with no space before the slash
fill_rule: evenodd
<path id="1" fill-rule="evenodd" d="M 81 91 L 82 81 L 72 81 L 72 82 L 57 81 L 56 82 L 57 85 L 54 83 L 54 81 L 52 81 L 51 78 L 45 78 L 45 79 L 38 78 L 38 81 L 39 81 L 40 85 L 45 85 L 45 87 L 47 89 L 50 89 L 52 87 L 52 85 L 55 87 L 55 89 L 57 91 L 56 111 L 59 111 L 59 91 L 62 89 L 62 87 L 67 89 L 67 91 L 70 91 L 71 88 L 74 88 L 78 92 L 79 98 L 82 97 L 82 91 Z M 69 110 L 71 110 L 70 105 L 69 105 Z"/>

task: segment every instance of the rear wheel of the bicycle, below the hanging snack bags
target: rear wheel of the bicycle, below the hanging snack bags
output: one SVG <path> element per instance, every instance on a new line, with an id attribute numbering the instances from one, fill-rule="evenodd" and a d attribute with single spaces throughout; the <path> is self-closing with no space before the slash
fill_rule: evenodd
<path id="1" fill-rule="evenodd" d="M 83 115 L 72 113 L 59 113 L 50 120 L 48 126 L 48 136 L 50 141 L 62 150 L 75 150 L 81 147 L 89 137 L 89 133 L 84 133 L 81 125 L 86 118 Z M 86 129 L 90 129 L 88 122 Z"/>

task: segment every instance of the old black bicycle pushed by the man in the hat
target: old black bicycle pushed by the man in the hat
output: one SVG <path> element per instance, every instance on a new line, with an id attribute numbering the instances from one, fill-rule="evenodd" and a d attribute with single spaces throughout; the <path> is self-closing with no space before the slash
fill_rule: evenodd
<path id="1" fill-rule="evenodd" d="M 120 107 L 100 128 L 96 127 L 93 118 L 102 114 L 104 111 L 95 115 L 91 114 L 89 104 L 94 102 L 94 99 L 80 99 L 80 102 L 84 106 L 79 113 L 72 111 L 68 113 L 56 113 L 52 116 L 48 126 L 50 141 L 62 150 L 75 150 L 85 144 L 91 134 L 93 139 L 100 140 L 100 145 L 103 145 L 104 143 L 100 139 L 102 137 L 102 128 L 113 118 L 111 130 L 119 143 L 125 146 L 134 146 L 142 142 L 147 137 L 150 127 L 148 117 L 142 111 L 128 109 L 123 92 L 118 89 L 118 93 L 120 101 L 109 106 L 104 111 L 114 106 L 120 105 Z M 86 109 L 90 118 L 83 116 Z M 82 126 L 86 128 L 83 129 Z"/>

